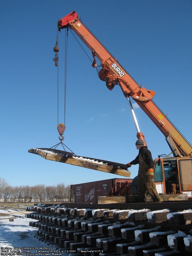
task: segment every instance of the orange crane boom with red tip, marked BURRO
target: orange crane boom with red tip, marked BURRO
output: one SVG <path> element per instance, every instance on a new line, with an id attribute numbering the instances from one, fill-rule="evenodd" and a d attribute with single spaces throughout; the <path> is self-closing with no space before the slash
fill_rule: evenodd
<path id="1" fill-rule="evenodd" d="M 115 85 L 121 87 L 124 96 L 132 97 L 142 108 L 147 116 L 164 134 L 174 156 L 191 156 L 192 146 L 170 122 L 166 115 L 153 102 L 155 92 L 140 87 L 139 84 L 128 74 L 110 52 L 100 43 L 100 41 L 86 28 L 78 14 L 73 11 L 58 21 L 58 28 L 70 28 L 91 50 L 93 56 L 92 66 L 96 67 L 96 59 L 101 62 L 99 77 L 106 82 L 109 90 Z"/>

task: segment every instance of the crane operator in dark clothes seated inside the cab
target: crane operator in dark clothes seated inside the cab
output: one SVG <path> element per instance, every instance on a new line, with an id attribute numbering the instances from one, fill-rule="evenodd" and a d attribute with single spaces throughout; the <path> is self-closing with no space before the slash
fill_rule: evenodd
<path id="1" fill-rule="evenodd" d="M 167 194 L 176 194 L 176 189 L 179 188 L 179 175 L 177 168 L 172 168 L 172 176 L 165 180 Z"/>

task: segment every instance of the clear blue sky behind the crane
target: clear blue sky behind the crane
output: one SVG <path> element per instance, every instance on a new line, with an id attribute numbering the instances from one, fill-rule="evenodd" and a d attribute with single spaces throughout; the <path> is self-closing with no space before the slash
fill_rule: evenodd
<path id="1" fill-rule="evenodd" d="M 156 92 L 154 102 L 191 142 L 191 0 L 1 1 L 0 177 L 11 186 L 121 178 L 28 153 L 59 143 L 53 47 L 57 21 L 73 10 L 138 84 Z M 59 123 L 64 122 L 64 36 L 62 30 Z M 71 33 L 67 65 L 64 143 L 79 156 L 133 160 L 137 132 L 128 103 L 120 87 L 109 91 L 98 78 Z M 169 154 L 164 135 L 132 104 L 153 158 Z M 138 166 L 129 170 L 134 178 Z"/>

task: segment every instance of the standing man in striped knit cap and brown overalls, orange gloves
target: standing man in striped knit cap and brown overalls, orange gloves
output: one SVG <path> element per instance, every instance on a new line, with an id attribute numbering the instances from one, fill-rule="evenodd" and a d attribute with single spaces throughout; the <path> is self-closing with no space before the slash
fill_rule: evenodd
<path id="1" fill-rule="evenodd" d="M 147 146 L 144 146 L 143 140 L 137 140 L 135 145 L 136 148 L 139 149 L 139 154 L 133 161 L 127 163 L 126 165 L 131 167 L 132 164 L 139 164 L 138 202 L 146 203 L 147 191 L 149 195 L 151 195 L 153 202 L 161 203 L 161 198 L 157 193 L 154 183 L 154 162 L 151 156 L 151 152 L 148 150 Z"/>

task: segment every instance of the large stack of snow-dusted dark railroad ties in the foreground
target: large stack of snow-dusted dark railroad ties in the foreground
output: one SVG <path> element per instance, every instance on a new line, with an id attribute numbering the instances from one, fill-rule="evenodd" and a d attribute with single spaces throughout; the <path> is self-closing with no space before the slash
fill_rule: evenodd
<path id="1" fill-rule="evenodd" d="M 38 228 L 36 238 L 71 256 L 183 256 L 192 252 L 191 209 L 78 209 L 37 204 L 26 210 L 31 213 L 25 217 L 33 219 L 29 226 Z"/>

